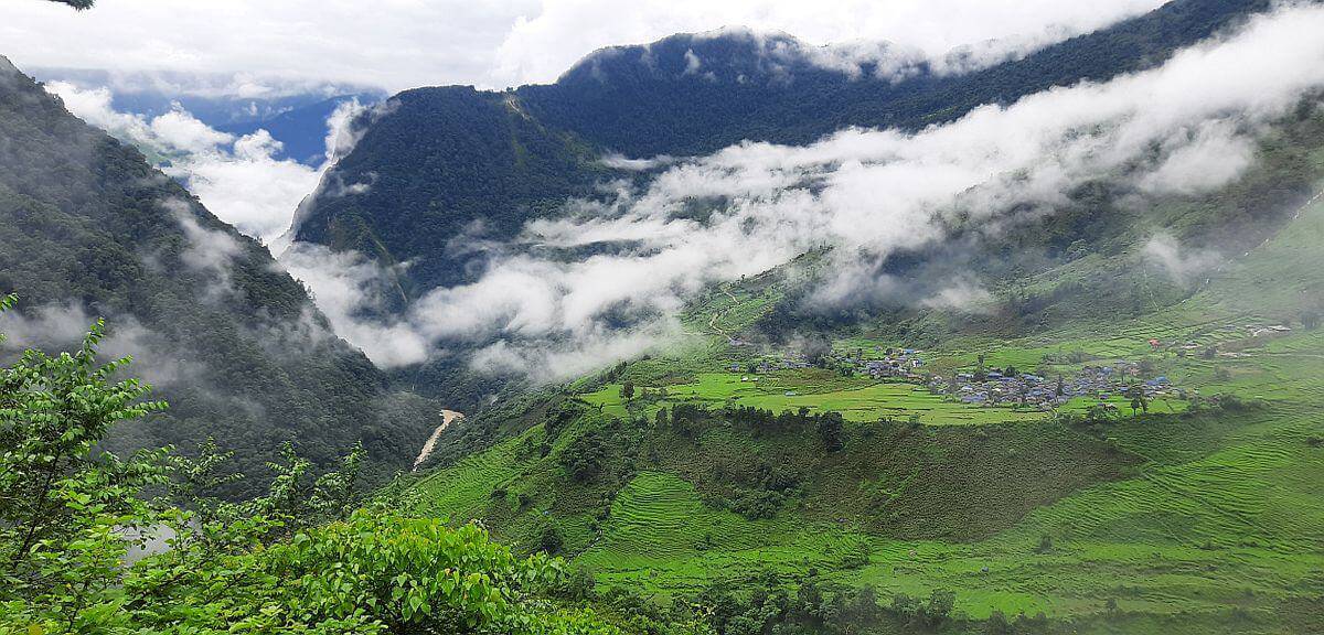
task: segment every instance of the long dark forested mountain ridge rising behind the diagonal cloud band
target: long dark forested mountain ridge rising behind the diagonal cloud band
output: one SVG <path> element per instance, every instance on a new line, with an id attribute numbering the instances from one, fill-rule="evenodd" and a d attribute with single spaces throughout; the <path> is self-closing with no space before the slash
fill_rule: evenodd
<path id="1" fill-rule="evenodd" d="M 600 161 L 694 155 L 741 142 L 806 143 L 849 126 L 918 128 L 982 103 L 1155 66 L 1173 50 L 1263 11 L 1263 0 L 1178 0 L 1148 15 L 965 74 L 879 75 L 887 50 L 850 58 L 789 36 L 732 29 L 597 52 L 556 83 L 510 91 L 416 89 L 360 122 L 363 139 L 327 183 L 371 184 L 306 201 L 295 238 L 409 262 L 418 296 L 469 282 L 482 251 L 451 241 L 507 241 L 568 196 L 633 172 Z M 873 61 L 870 61 L 873 60 Z"/>

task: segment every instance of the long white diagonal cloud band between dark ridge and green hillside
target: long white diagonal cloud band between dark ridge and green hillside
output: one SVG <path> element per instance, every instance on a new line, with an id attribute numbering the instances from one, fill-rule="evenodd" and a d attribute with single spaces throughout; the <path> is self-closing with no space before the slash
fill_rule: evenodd
<path id="1" fill-rule="evenodd" d="M 1158 69 L 984 106 L 918 132 L 845 130 L 805 147 L 741 143 L 530 222 L 519 239 L 491 251 L 475 282 L 434 290 L 379 325 L 389 337 L 380 328 L 354 335 L 371 323 L 356 312 L 355 290 L 389 279 L 365 262 L 342 263 L 354 282 L 336 287 L 338 310 L 328 315 L 346 320 L 342 335 L 379 362 L 462 343 L 479 348 L 478 369 L 560 377 L 581 368 L 580 359 L 670 341 L 679 331 L 670 316 L 702 290 L 816 247 L 831 250 L 810 302 L 900 294 L 918 306 L 980 311 L 989 294 L 973 275 L 948 273 L 925 288 L 882 265 L 900 250 L 943 245 L 953 228 L 977 241 L 1039 220 L 1100 177 L 1136 196 L 1229 183 L 1251 160 L 1266 123 L 1324 86 L 1320 32 L 1324 8 L 1288 5 Z M 703 201 L 714 210 L 699 221 L 687 212 Z M 608 245 L 573 261 L 539 255 Z M 1189 269 L 1189 254 L 1174 258 L 1177 270 Z M 323 283 L 310 286 L 322 303 Z"/>

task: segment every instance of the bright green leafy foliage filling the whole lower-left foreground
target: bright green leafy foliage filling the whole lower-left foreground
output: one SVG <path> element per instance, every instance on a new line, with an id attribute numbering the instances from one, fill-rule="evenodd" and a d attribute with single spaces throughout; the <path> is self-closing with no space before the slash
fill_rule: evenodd
<path id="1" fill-rule="evenodd" d="M 114 425 L 164 407 L 114 378 L 127 360 L 97 362 L 102 332 L 0 370 L 0 634 L 621 632 L 552 598 L 557 560 L 389 501 L 355 508 L 361 450 L 312 479 L 286 447 L 246 503 L 211 495 L 232 480 L 214 443 L 193 459 L 99 451 Z"/>

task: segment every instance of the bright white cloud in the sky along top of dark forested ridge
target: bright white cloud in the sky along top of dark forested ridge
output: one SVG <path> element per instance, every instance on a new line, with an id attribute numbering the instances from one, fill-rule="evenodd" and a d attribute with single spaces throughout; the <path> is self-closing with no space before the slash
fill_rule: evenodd
<path id="1" fill-rule="evenodd" d="M 520 17 L 496 50 L 491 85 L 549 82 L 589 50 L 650 42 L 673 33 L 744 26 L 756 33 L 790 33 L 809 46 L 797 50 L 822 66 L 857 73 L 862 62 L 891 71 L 929 62 L 940 73 L 961 73 L 1107 26 L 1162 0 L 1062 3 L 1053 0 L 610 0 L 543 3 L 536 17 Z M 820 48 L 821 45 L 834 46 Z M 687 71 L 702 60 L 687 56 Z"/>

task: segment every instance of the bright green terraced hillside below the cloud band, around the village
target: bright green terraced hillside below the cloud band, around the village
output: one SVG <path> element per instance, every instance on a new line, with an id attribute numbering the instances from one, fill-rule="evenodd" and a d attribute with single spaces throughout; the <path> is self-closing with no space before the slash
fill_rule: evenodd
<path id="1" fill-rule="evenodd" d="M 478 417 L 475 429 L 511 435 L 418 480 L 420 509 L 553 549 L 600 590 L 714 607 L 722 632 L 747 632 L 752 616 L 831 632 L 920 622 L 944 632 L 1315 632 L 1316 126 L 1286 124 L 1260 171 L 1227 190 L 1147 210 L 1188 238 L 1237 222 L 1192 225 L 1201 214 L 1260 210 L 1253 245 L 1198 280 L 1147 265 L 1140 232 L 1119 224 L 1120 255 L 1059 263 L 1027 287 L 1084 276 L 1125 294 L 1046 304 L 1047 318 L 1026 328 L 1000 318 L 1017 302 L 1000 290 L 1004 308 L 981 324 L 899 312 L 833 325 L 828 345 L 759 337 L 798 276 L 715 288 L 683 316 L 706 344 L 569 384 L 534 410 Z M 1256 185 L 1271 183 L 1284 193 Z M 1111 318 L 1074 318 L 1087 311 Z M 922 365 L 865 372 L 890 357 Z M 1043 377 L 1017 385 L 1055 397 L 1061 377 L 1067 394 L 1022 405 L 1012 392 L 981 405 L 935 381 L 1008 366 Z M 1103 368 L 1120 378 L 1090 384 Z M 1092 390 L 1074 396 L 1072 385 Z M 867 619 L 847 610 L 862 589 L 880 605 Z M 933 598 L 941 613 L 943 591 L 953 609 L 924 622 Z M 821 595 L 820 610 L 805 609 L 806 593 Z M 779 594 L 789 603 L 768 605 Z"/>

